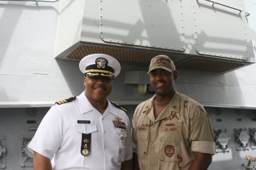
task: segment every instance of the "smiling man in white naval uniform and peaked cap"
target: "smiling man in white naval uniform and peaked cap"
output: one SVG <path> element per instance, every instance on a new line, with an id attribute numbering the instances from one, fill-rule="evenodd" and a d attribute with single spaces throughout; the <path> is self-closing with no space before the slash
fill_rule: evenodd
<path id="1" fill-rule="evenodd" d="M 85 91 L 58 101 L 43 118 L 28 145 L 34 169 L 132 169 L 129 118 L 107 99 L 121 70 L 119 62 L 91 54 L 79 67 Z"/>

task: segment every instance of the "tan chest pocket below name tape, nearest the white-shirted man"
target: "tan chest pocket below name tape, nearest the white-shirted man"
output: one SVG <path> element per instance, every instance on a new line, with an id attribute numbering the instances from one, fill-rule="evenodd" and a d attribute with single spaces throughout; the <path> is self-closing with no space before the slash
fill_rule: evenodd
<path id="1" fill-rule="evenodd" d="M 138 159 L 146 159 L 148 145 L 148 127 L 145 131 L 138 131 L 138 128 L 139 127 L 137 127 L 136 132 Z"/>

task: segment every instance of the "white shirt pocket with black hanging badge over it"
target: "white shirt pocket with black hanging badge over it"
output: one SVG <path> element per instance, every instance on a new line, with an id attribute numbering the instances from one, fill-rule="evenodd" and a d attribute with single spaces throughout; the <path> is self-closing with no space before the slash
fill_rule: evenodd
<path id="1" fill-rule="evenodd" d="M 76 140 L 77 145 L 81 147 L 82 133 L 89 134 L 92 133 L 92 139 L 90 141 L 90 146 L 92 151 L 96 151 L 98 148 L 97 139 L 97 126 L 96 125 L 75 125 L 76 129 Z"/>

